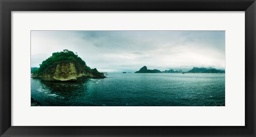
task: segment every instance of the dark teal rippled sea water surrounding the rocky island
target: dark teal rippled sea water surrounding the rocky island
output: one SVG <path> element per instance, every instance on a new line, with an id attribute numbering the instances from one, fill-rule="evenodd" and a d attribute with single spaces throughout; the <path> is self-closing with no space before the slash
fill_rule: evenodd
<path id="1" fill-rule="evenodd" d="M 31 78 L 42 106 L 225 106 L 225 74 L 108 73 L 105 79 Z"/>

